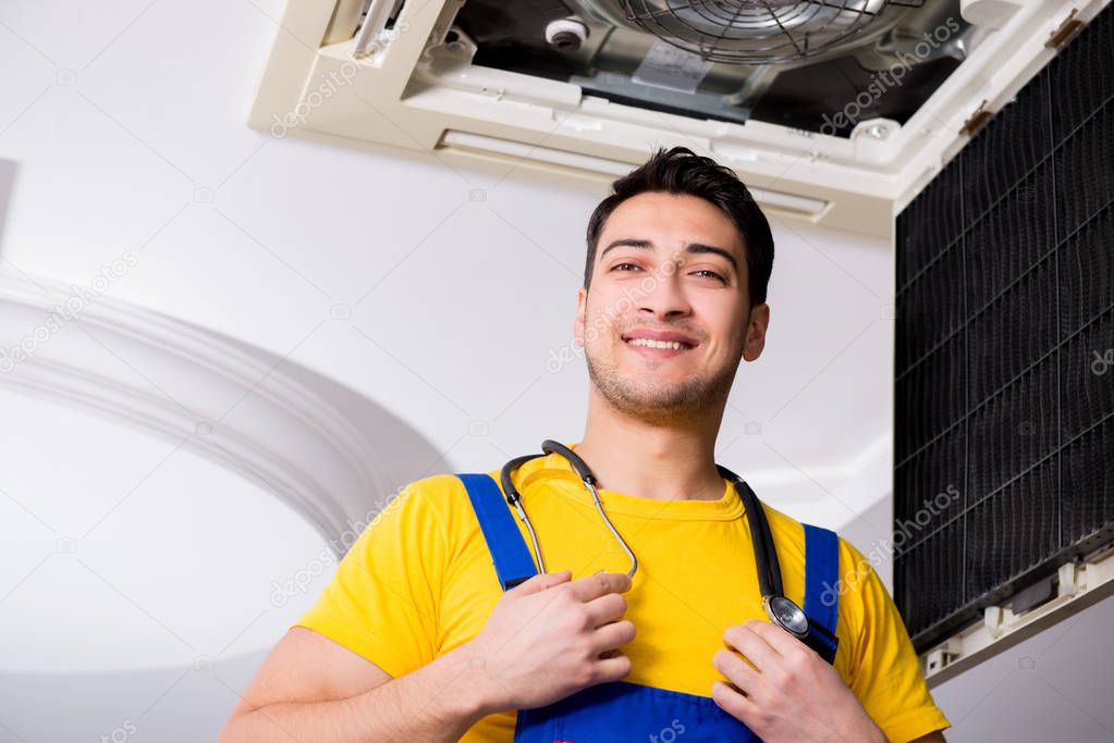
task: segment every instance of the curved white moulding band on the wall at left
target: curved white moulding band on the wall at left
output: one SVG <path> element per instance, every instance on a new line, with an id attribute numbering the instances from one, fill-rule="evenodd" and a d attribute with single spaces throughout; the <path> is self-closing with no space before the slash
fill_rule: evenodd
<path id="1" fill-rule="evenodd" d="M 95 410 L 247 477 L 342 554 L 438 460 L 405 423 L 328 377 L 235 338 L 0 267 L 0 384 Z"/>

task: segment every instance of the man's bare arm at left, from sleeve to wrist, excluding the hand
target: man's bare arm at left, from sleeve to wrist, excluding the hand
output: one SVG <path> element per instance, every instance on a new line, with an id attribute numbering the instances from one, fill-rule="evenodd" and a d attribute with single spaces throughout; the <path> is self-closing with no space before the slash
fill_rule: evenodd
<path id="1" fill-rule="evenodd" d="M 494 711 L 480 681 L 456 651 L 392 678 L 328 637 L 294 627 L 252 680 L 219 743 L 456 741 Z"/>

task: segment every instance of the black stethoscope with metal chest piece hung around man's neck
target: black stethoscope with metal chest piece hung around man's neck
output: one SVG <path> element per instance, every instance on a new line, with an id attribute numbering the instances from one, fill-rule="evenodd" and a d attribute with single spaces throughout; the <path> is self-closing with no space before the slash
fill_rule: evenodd
<path id="1" fill-rule="evenodd" d="M 522 496 L 517 489 L 515 489 L 515 484 L 510 479 L 510 474 L 530 459 L 545 456 L 546 454 L 556 453 L 565 457 L 568 463 L 573 465 L 573 468 L 576 469 L 580 479 L 584 481 L 584 486 L 588 488 L 588 493 L 592 494 L 592 499 L 596 504 L 596 511 L 599 512 L 599 516 L 604 519 L 607 528 L 615 535 L 615 538 L 623 546 L 623 551 L 631 559 L 631 569 L 627 571 L 627 575 L 633 578 L 635 571 L 638 569 L 638 558 L 634 556 L 634 552 L 631 551 L 629 545 L 627 545 L 626 541 L 615 528 L 615 525 L 612 524 L 612 519 L 607 517 L 607 513 L 604 511 L 604 505 L 599 501 L 599 493 L 596 491 L 596 477 L 592 474 L 592 469 L 588 468 L 588 465 L 584 462 L 584 459 L 573 452 L 573 449 L 557 442 L 550 439 L 541 442 L 541 450 L 545 454 L 527 454 L 526 456 L 511 459 L 504 465 L 502 470 L 499 474 L 499 479 L 502 484 L 502 492 L 507 496 L 507 503 L 509 503 L 511 507 L 515 508 L 516 513 L 518 513 L 518 517 L 521 519 L 522 524 L 526 525 L 526 531 L 529 533 L 530 541 L 534 543 L 534 554 L 537 555 L 538 558 L 538 572 L 546 572 L 545 561 L 541 558 L 541 549 L 538 546 L 538 536 L 534 532 L 534 525 L 530 523 L 530 517 L 526 515 L 526 509 L 522 507 Z M 739 493 L 739 497 L 743 501 L 744 513 L 750 514 L 751 516 L 747 521 L 751 525 L 751 539 L 754 543 L 754 563 L 759 573 L 759 590 L 762 592 L 762 607 L 770 616 L 771 622 L 782 627 L 791 635 L 808 643 L 809 618 L 804 614 L 804 610 L 782 594 L 781 567 L 778 564 L 778 551 L 774 548 L 773 535 L 770 532 L 770 524 L 766 521 L 764 509 L 759 503 L 759 497 L 742 477 L 721 465 L 716 465 L 715 468 L 720 470 L 720 475 L 722 477 L 726 477 L 734 484 L 735 492 Z"/>

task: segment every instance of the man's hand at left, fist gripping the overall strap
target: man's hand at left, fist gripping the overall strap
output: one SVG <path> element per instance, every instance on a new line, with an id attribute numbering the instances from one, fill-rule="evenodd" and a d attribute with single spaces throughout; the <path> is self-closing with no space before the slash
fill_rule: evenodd
<path id="1" fill-rule="evenodd" d="M 491 681 L 494 711 L 545 706 L 631 673 L 631 658 L 617 651 L 634 638 L 634 624 L 620 618 L 629 576 L 570 578 L 569 571 L 545 573 L 515 586 L 467 643 L 469 665 Z"/>

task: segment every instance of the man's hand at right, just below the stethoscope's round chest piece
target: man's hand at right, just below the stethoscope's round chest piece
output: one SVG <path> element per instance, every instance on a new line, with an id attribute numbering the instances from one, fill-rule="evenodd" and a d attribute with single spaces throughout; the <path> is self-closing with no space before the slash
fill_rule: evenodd
<path id="1" fill-rule="evenodd" d="M 713 683 L 712 699 L 765 743 L 886 743 L 839 672 L 778 625 L 747 620 L 723 640 L 712 663 L 731 683 Z"/>

